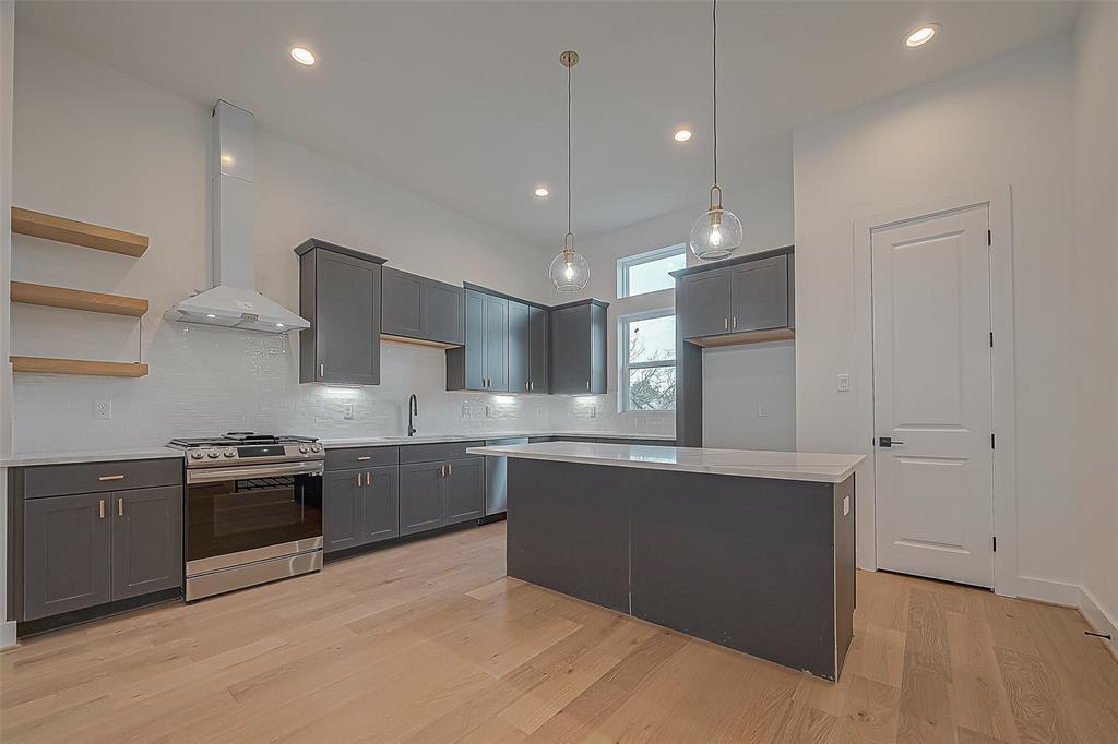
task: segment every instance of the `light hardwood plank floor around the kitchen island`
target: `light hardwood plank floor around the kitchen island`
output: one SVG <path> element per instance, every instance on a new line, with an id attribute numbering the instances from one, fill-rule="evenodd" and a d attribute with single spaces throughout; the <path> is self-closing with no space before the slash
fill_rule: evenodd
<path id="1" fill-rule="evenodd" d="M 0 738 L 1118 742 L 1084 629 L 860 573 L 832 685 L 505 579 L 498 523 L 31 639 L 0 655 Z"/>

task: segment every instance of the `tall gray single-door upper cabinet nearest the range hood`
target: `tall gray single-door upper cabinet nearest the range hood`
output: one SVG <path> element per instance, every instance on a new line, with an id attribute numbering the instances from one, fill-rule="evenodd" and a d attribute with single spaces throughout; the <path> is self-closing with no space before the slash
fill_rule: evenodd
<path id="1" fill-rule="evenodd" d="M 295 248 L 300 260 L 300 382 L 380 384 L 383 258 L 316 238 Z"/>

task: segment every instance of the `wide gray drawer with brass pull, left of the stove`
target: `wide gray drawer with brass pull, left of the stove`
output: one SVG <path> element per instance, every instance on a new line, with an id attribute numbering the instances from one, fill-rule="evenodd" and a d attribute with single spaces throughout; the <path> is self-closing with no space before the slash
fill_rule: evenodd
<path id="1" fill-rule="evenodd" d="M 27 468 L 23 484 L 26 498 L 179 486 L 182 485 L 182 458 L 40 465 Z"/>

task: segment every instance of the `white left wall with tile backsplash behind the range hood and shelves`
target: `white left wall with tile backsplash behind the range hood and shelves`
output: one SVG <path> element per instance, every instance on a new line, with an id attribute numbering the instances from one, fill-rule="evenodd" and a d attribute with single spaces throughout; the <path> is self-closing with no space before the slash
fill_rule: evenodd
<path id="1" fill-rule="evenodd" d="M 140 259 L 17 236 L 18 279 L 151 301 L 149 376 L 17 375 L 17 451 L 144 447 L 244 428 L 399 433 L 411 392 L 424 432 L 548 428 L 546 397 L 446 392 L 439 351 L 386 344 L 379 388 L 300 385 L 294 336 L 165 323 L 170 305 L 207 286 L 209 107 L 28 32 L 17 35 L 15 86 L 15 202 L 151 236 Z M 542 249 L 271 136 L 260 123 L 255 180 L 257 288 L 287 307 L 299 307 L 292 248 L 310 236 L 435 278 L 551 299 Z M 16 353 L 132 361 L 140 337 L 131 319 L 20 305 L 12 344 Z M 98 399 L 113 401 L 111 420 L 93 418 Z M 342 420 L 344 402 L 357 407 L 351 421 Z"/>

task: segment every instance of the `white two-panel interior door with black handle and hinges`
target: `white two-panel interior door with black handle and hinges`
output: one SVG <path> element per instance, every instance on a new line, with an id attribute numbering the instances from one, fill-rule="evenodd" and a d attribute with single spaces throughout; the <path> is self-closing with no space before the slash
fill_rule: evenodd
<path id="1" fill-rule="evenodd" d="M 982 586 L 994 583 L 988 230 L 982 206 L 871 241 L 878 565 Z"/>

